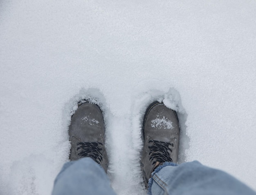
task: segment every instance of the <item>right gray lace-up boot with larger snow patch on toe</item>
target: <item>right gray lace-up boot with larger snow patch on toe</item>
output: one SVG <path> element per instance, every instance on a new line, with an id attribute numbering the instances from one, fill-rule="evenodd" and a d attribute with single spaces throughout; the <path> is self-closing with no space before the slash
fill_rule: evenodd
<path id="1" fill-rule="evenodd" d="M 175 111 L 158 101 L 149 105 L 143 121 L 144 149 L 141 169 L 146 188 L 155 168 L 164 162 L 177 162 L 180 127 Z"/>

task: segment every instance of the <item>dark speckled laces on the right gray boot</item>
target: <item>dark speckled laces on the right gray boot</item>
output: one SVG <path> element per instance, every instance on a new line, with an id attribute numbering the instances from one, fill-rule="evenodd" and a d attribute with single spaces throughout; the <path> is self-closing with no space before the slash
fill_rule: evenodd
<path id="1" fill-rule="evenodd" d="M 151 162 L 154 160 L 152 165 L 154 165 L 156 162 L 173 162 L 169 153 L 169 151 L 172 152 L 172 149 L 169 148 L 169 145 L 173 147 L 173 143 L 156 140 L 150 140 L 149 143 L 150 142 L 153 142 L 153 145 L 148 147 L 148 149 L 150 149 L 149 155 L 151 155 L 149 160 Z"/>

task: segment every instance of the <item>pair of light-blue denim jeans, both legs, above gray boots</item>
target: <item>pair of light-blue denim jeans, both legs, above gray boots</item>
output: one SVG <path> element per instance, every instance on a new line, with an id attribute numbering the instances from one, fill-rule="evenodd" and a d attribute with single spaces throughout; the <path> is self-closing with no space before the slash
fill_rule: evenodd
<path id="1" fill-rule="evenodd" d="M 231 175 L 198 161 L 165 162 L 152 173 L 151 195 L 256 195 Z M 91 158 L 66 162 L 55 179 L 52 195 L 115 195 L 105 171 Z"/>

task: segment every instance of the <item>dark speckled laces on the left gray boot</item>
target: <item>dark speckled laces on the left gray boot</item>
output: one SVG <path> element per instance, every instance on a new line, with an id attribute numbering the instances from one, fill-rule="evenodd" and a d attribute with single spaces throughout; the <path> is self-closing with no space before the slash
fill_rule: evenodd
<path id="1" fill-rule="evenodd" d="M 78 147 L 76 150 L 83 149 L 81 152 L 78 153 L 78 156 L 81 157 L 91 157 L 98 163 L 102 160 L 102 146 L 101 142 L 79 142 L 76 144 Z M 98 161 L 99 160 L 99 161 Z"/>

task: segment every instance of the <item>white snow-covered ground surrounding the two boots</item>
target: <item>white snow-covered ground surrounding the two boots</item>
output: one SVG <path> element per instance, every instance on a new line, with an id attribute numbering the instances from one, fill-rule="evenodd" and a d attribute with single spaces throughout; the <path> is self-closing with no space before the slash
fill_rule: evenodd
<path id="1" fill-rule="evenodd" d="M 76 102 L 104 111 L 108 175 L 144 194 L 142 117 L 178 111 L 179 162 L 256 190 L 256 1 L 2 0 L 0 194 L 49 195 Z"/>

